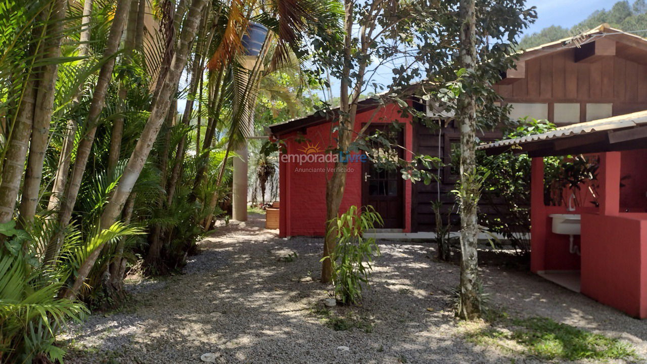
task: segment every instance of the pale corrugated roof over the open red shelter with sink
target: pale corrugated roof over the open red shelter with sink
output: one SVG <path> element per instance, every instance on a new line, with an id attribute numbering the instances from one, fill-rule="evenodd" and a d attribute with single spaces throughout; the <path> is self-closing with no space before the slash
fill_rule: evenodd
<path id="1" fill-rule="evenodd" d="M 550 139 L 560 139 L 572 137 L 575 135 L 582 135 L 587 133 L 595 133 L 597 131 L 605 130 L 618 130 L 624 128 L 632 128 L 641 124 L 647 124 L 647 110 L 638 111 L 637 113 L 630 113 L 625 115 L 618 115 L 615 117 L 608 117 L 606 119 L 593 120 L 589 122 L 580 122 L 578 124 L 571 124 L 561 126 L 556 130 L 547 133 L 527 135 L 525 137 L 515 139 L 504 139 L 498 142 L 489 144 L 482 144 L 476 147 L 478 150 L 485 150 L 489 148 L 497 148 L 504 146 L 512 146 L 514 144 L 527 144 L 531 142 L 547 141 Z"/>

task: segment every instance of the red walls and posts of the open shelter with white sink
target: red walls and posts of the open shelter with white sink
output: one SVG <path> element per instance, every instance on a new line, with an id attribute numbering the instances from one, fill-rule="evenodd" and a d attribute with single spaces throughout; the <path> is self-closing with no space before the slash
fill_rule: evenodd
<path id="1" fill-rule="evenodd" d="M 580 269 L 584 295 L 639 318 L 647 318 L 646 155 L 647 150 L 600 154 L 600 207 L 574 212 L 543 204 L 543 159 L 532 159 L 531 270 Z M 631 204 L 630 212 L 625 204 Z M 552 233 L 549 215 L 555 213 L 582 215 L 582 234 L 575 240 L 581 256 L 569 253 L 567 235 Z"/>

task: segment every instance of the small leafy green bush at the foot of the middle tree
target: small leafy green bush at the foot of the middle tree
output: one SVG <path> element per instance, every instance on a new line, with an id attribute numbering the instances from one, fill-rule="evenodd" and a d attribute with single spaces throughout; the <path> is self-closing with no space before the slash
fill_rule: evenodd
<path id="1" fill-rule="evenodd" d="M 364 238 L 367 229 L 383 225 L 383 220 L 372 206 L 360 210 L 356 206 L 333 220 L 337 244 L 330 256 L 333 262 L 334 296 L 345 304 L 356 304 L 362 299 L 362 284 L 368 285 L 373 267 L 373 256 L 380 255 L 375 238 Z"/>

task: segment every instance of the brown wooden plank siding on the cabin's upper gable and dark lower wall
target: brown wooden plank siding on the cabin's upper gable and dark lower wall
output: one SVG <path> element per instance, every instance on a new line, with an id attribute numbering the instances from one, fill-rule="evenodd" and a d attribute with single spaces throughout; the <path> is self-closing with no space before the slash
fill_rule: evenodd
<path id="1" fill-rule="evenodd" d="M 548 104 L 548 118 L 553 120 L 554 104 L 559 102 L 579 103 L 580 122 L 586 121 L 587 103 L 613 103 L 613 115 L 622 115 L 647 109 L 647 65 L 632 62 L 617 56 L 603 57 L 591 63 L 575 63 L 575 50 L 567 49 L 526 60 L 525 78 L 495 88 L 507 102 L 541 102 Z M 643 62 L 644 63 L 644 62 Z M 438 137 L 438 130 L 432 131 L 415 124 L 413 150 L 419 154 L 443 157 L 446 154 L 446 137 Z M 444 136 L 457 139 L 459 130 L 450 123 L 443 128 Z M 481 135 L 481 139 L 500 138 L 501 133 Z M 441 155 L 438 147 L 441 147 Z M 433 171 L 437 173 L 438 171 Z M 441 168 L 440 196 L 444 203 L 443 214 L 454 207 L 455 198 L 450 194 L 455 189 L 452 178 L 447 178 L 448 168 Z M 435 217 L 432 201 L 438 196 L 436 183 L 425 186 L 413 185 L 411 203 L 411 230 L 433 231 Z M 457 209 L 457 206 L 454 207 Z M 481 212 L 490 207 L 480 205 Z M 446 218 L 443 218 L 446 221 Z M 459 216 L 452 215 L 455 226 Z"/>

